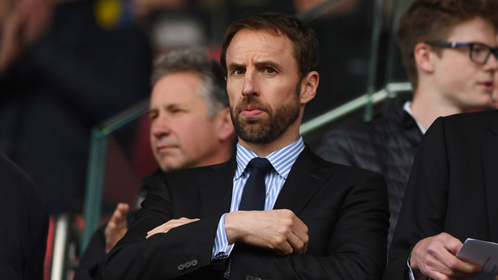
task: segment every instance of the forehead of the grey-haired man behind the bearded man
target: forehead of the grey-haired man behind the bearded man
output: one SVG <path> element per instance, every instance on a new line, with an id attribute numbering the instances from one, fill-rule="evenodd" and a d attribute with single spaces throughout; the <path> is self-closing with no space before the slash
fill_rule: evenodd
<path id="1" fill-rule="evenodd" d="M 167 74 L 159 79 L 150 97 L 151 107 L 174 103 L 195 103 L 204 101 L 200 97 L 202 76 L 190 71 Z"/>

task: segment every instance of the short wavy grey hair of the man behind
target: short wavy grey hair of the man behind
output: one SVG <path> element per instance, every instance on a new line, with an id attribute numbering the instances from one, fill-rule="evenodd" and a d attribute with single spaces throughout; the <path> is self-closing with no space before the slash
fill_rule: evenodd
<path id="1" fill-rule="evenodd" d="M 165 75 L 178 72 L 198 73 L 204 80 L 200 97 L 204 99 L 209 117 L 228 107 L 228 94 L 222 66 L 208 58 L 201 49 L 174 49 L 159 56 L 154 62 L 152 86 Z"/>

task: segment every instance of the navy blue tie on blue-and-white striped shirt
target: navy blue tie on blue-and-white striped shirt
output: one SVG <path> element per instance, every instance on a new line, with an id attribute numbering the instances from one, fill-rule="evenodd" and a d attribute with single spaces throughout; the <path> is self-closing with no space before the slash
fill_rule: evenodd
<path id="1" fill-rule="evenodd" d="M 263 157 L 254 157 L 248 164 L 251 175 L 246 181 L 244 192 L 240 200 L 239 210 L 264 210 L 265 209 L 265 175 L 273 166 Z"/>

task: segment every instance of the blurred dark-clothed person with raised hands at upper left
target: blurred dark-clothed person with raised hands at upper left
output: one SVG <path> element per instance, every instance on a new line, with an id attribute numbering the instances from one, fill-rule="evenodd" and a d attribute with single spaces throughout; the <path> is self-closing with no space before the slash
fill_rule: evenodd
<path id="1" fill-rule="evenodd" d="M 147 36 L 99 25 L 96 1 L 0 4 L 0 149 L 51 214 L 81 211 L 91 128 L 150 92 Z"/>

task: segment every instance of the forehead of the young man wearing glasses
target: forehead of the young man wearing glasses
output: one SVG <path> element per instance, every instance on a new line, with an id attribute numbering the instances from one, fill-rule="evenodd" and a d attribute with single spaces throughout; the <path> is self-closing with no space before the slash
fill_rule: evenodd
<path id="1" fill-rule="evenodd" d="M 481 42 L 490 47 L 497 45 L 496 29 L 490 21 L 484 18 L 473 18 L 469 21 L 458 23 L 451 29 L 448 36 L 449 41 L 458 42 Z"/>

